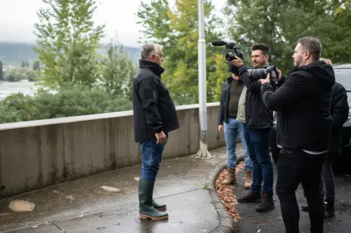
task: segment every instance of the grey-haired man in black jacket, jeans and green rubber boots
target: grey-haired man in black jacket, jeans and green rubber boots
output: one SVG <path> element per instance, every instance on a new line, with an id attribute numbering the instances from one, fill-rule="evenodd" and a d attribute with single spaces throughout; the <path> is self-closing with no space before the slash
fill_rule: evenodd
<path id="1" fill-rule="evenodd" d="M 160 45 L 145 44 L 139 71 L 133 79 L 134 139 L 141 146 L 139 179 L 139 217 L 152 220 L 168 218 L 166 205 L 153 200 L 153 190 L 168 132 L 178 129 L 176 107 L 161 81 L 163 53 Z"/>

